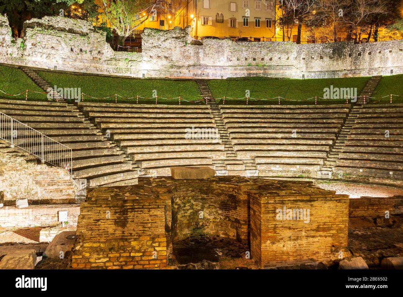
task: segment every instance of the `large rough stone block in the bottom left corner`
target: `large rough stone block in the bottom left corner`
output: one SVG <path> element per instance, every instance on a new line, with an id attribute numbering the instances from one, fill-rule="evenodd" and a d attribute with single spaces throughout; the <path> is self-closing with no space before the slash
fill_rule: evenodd
<path id="1" fill-rule="evenodd" d="M 26 249 L 5 255 L 0 261 L 0 269 L 34 269 L 35 264 L 35 250 Z"/>

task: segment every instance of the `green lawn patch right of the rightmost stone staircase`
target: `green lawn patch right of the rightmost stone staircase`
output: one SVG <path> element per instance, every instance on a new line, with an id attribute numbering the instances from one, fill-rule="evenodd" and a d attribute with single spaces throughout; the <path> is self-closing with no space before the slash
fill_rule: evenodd
<path id="1" fill-rule="evenodd" d="M 392 96 L 392 103 L 403 103 L 403 74 L 382 76 L 378 86 L 376 87 L 375 93 L 372 97 L 383 97 L 382 99 L 372 99 L 370 103 L 373 104 L 387 104 L 391 102 L 390 94 L 399 95 Z"/>

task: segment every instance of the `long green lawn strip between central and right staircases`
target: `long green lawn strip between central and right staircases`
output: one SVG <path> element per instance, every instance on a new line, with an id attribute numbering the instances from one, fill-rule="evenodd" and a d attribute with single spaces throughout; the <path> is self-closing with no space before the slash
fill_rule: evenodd
<path id="1" fill-rule="evenodd" d="M 249 100 L 248 104 L 273 105 L 278 104 L 278 96 L 303 100 L 315 96 L 324 97 L 324 88 L 357 88 L 357 95 L 364 88 L 370 77 L 345 77 L 323 79 L 287 79 L 267 77 L 242 77 L 224 80 L 210 80 L 208 86 L 215 98 L 226 96 L 231 98 L 244 97 L 246 90 L 250 91 L 251 98 L 273 98 L 273 100 Z M 280 99 L 281 104 L 310 105 L 315 99 L 306 101 L 291 101 Z M 222 104 L 223 100 L 219 100 Z M 217 100 L 218 102 L 218 100 Z M 345 99 L 317 99 L 317 104 L 344 104 Z M 246 99 L 226 99 L 225 104 L 246 104 Z"/>

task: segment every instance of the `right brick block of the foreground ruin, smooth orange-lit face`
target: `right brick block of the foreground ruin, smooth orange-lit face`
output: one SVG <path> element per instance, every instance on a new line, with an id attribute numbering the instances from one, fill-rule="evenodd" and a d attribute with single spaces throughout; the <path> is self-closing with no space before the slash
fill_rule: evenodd
<path id="1" fill-rule="evenodd" d="M 347 252 L 347 195 L 301 182 L 281 192 L 251 193 L 251 252 L 261 267 L 329 261 L 337 259 L 339 251 Z M 309 222 L 282 220 L 277 209 L 284 206 L 309 209 Z"/>

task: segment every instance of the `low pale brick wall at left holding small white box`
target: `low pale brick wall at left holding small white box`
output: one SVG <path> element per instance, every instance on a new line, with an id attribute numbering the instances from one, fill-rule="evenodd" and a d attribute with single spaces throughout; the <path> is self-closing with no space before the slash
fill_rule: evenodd
<path id="1" fill-rule="evenodd" d="M 0 227 L 48 227 L 60 225 L 58 211 L 68 211 L 69 228 L 77 227 L 80 214 L 78 204 L 29 205 L 26 208 L 4 206 L 0 208 Z"/>

